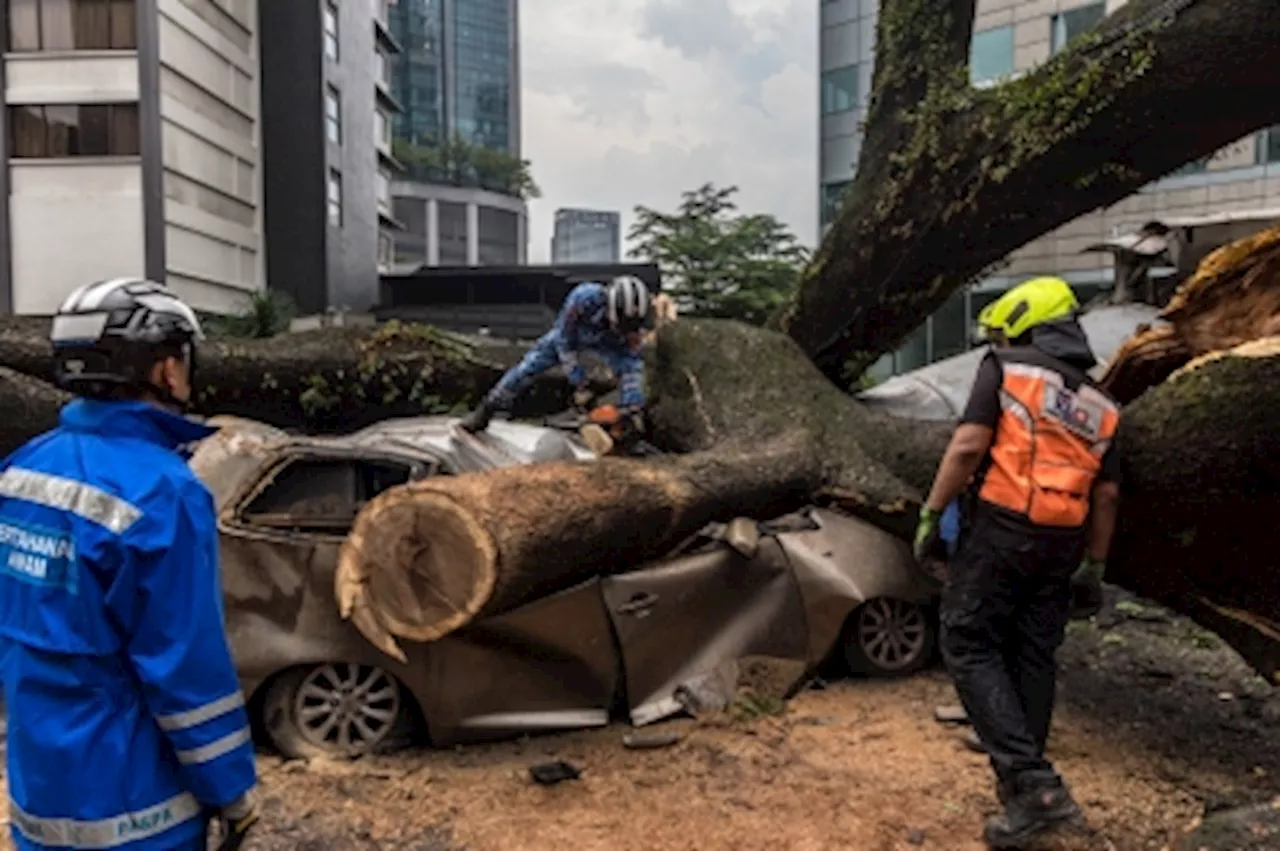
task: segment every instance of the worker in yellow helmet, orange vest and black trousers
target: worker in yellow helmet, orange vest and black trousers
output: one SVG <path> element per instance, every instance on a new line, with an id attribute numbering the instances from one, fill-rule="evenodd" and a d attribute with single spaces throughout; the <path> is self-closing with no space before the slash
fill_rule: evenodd
<path id="1" fill-rule="evenodd" d="M 915 536 L 941 555 L 940 517 L 961 495 L 959 548 L 942 593 L 942 654 L 997 778 L 1002 815 L 984 837 L 1016 848 L 1082 818 L 1044 758 L 1055 654 L 1076 598 L 1101 604 L 1120 475 L 1120 407 L 1096 365 L 1065 280 L 1025 282 L 978 317 L 993 348 L 938 467 Z"/>

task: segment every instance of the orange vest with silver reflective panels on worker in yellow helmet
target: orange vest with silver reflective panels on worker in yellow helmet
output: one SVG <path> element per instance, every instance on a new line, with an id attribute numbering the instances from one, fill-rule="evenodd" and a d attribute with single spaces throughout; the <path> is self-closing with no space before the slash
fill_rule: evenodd
<path id="1" fill-rule="evenodd" d="M 996 356 L 1004 370 L 1001 416 L 978 497 L 1037 526 L 1083 526 L 1120 406 L 1047 356 Z"/>

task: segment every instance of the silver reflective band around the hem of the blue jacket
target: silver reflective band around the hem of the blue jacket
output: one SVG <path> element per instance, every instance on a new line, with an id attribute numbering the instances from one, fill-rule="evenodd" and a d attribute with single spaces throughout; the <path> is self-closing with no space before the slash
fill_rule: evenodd
<path id="1" fill-rule="evenodd" d="M 29 815 L 9 801 L 9 822 L 18 833 L 50 848 L 115 848 L 160 836 L 200 816 L 200 804 L 186 792 L 137 813 L 92 822 Z"/>

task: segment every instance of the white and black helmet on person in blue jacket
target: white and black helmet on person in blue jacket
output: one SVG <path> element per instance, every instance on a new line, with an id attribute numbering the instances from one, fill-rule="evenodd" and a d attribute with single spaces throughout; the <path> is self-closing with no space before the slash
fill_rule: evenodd
<path id="1" fill-rule="evenodd" d="M 180 358 L 195 385 L 196 342 L 204 337 L 196 311 L 164 284 L 100 280 L 68 296 L 54 316 L 54 375 L 76 395 L 108 397 L 134 388 L 175 402 L 151 384 L 151 369 L 165 357 Z"/>

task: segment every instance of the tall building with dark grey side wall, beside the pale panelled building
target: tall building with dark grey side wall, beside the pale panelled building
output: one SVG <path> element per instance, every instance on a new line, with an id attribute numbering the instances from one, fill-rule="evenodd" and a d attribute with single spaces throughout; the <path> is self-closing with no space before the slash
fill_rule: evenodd
<path id="1" fill-rule="evenodd" d="M 301 314 L 369 310 L 390 266 L 393 5 L 259 0 L 268 280 Z"/>

